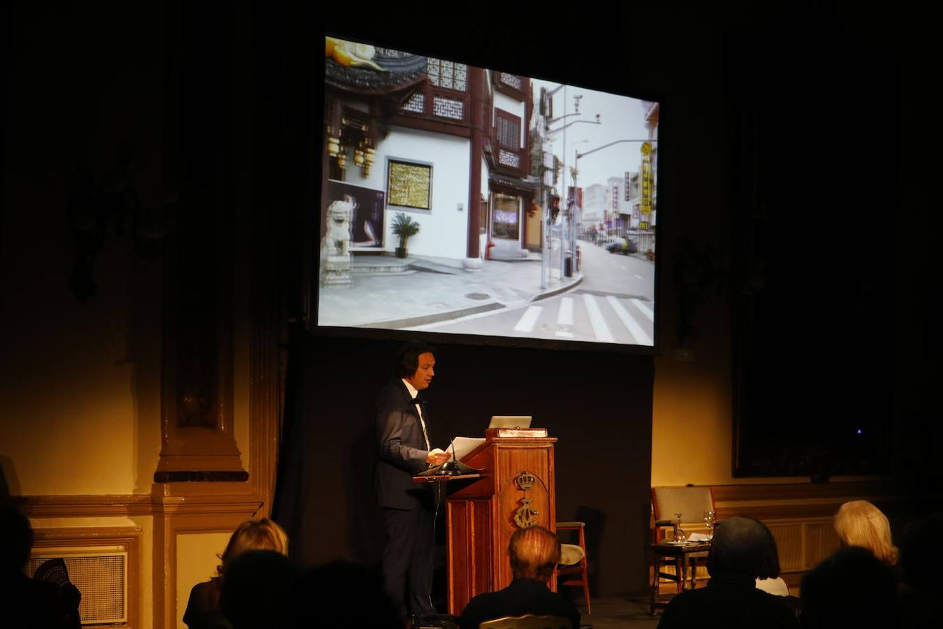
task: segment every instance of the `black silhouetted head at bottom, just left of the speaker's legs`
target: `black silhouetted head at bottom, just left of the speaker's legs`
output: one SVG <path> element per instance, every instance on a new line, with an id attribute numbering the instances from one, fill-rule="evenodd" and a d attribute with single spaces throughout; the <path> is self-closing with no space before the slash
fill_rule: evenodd
<path id="1" fill-rule="evenodd" d="M 292 597 L 293 626 L 403 629 L 379 571 L 336 561 L 306 571 Z"/>

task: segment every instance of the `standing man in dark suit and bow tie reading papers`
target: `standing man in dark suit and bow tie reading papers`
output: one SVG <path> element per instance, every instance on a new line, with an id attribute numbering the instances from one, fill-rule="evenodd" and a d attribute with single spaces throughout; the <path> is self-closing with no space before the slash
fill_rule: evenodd
<path id="1" fill-rule="evenodd" d="M 380 391 L 376 401 L 379 458 L 374 486 L 388 537 L 383 574 L 404 618 L 407 607 L 413 616 L 436 613 L 431 596 L 436 496 L 412 480 L 450 456 L 432 448 L 429 413 L 419 396 L 432 383 L 435 365 L 431 347 L 406 344 L 397 359 L 397 379 Z"/>

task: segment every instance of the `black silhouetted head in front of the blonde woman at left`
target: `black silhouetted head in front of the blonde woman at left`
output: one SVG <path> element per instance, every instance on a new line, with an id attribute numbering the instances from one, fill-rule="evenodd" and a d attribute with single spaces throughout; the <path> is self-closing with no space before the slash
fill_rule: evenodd
<path id="1" fill-rule="evenodd" d="M 220 606 L 235 629 L 290 626 L 295 571 L 275 551 L 247 550 L 226 564 Z"/>

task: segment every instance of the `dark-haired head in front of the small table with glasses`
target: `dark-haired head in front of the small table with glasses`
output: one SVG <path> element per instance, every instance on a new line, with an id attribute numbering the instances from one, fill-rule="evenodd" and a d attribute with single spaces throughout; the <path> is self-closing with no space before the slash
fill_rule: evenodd
<path id="1" fill-rule="evenodd" d="M 769 565 L 770 544 L 771 553 L 775 555 L 776 542 L 772 540 L 769 529 L 760 521 L 753 518 L 720 521 L 707 554 L 707 571 L 712 577 L 742 576 L 755 579 L 761 573 L 773 576 L 773 567 Z M 779 571 L 776 570 L 776 573 Z"/>

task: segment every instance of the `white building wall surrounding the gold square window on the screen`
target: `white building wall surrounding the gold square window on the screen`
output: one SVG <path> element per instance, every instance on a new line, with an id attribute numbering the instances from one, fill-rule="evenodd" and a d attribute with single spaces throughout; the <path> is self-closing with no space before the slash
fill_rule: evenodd
<path id="1" fill-rule="evenodd" d="M 369 177 L 364 177 L 348 157 L 346 183 L 385 190 L 387 193 L 383 251 L 393 253 L 399 246 L 400 239 L 392 233 L 390 224 L 397 212 L 404 212 L 420 224 L 420 232 L 406 243 L 410 257 L 456 260 L 465 257 L 468 251 L 468 212 L 478 209 L 468 207 L 471 152 L 471 141 L 467 138 L 390 126 L 389 136 L 377 144 Z M 432 166 L 431 209 L 389 205 L 389 159 Z"/>

